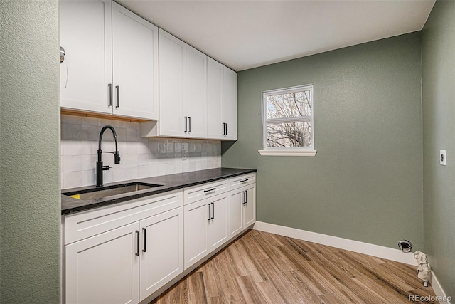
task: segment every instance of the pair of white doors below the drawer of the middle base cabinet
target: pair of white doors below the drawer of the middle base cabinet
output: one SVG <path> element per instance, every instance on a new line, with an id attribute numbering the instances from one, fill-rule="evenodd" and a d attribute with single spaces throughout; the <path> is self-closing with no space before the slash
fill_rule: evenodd
<path id="1" fill-rule="evenodd" d="M 228 241 L 228 193 L 183 207 L 185 269 Z"/>

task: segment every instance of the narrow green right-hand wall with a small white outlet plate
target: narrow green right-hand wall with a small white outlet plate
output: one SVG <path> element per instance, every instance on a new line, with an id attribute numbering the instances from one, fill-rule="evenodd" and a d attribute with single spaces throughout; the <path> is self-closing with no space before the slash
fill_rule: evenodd
<path id="1" fill-rule="evenodd" d="M 437 1 L 422 31 L 424 241 L 429 263 L 455 298 L 455 1 Z M 446 150 L 447 165 L 439 164 Z"/>

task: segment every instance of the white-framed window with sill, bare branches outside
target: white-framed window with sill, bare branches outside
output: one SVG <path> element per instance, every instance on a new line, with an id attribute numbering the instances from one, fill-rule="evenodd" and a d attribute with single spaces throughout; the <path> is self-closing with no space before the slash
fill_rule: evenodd
<path id="1" fill-rule="evenodd" d="M 314 156 L 313 85 L 262 93 L 261 155 Z"/>

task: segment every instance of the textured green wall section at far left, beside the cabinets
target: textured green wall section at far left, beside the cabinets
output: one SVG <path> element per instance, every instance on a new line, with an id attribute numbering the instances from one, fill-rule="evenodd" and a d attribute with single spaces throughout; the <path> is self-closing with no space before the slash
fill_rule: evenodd
<path id="1" fill-rule="evenodd" d="M 60 302 L 58 1 L 0 0 L 0 302 Z"/>

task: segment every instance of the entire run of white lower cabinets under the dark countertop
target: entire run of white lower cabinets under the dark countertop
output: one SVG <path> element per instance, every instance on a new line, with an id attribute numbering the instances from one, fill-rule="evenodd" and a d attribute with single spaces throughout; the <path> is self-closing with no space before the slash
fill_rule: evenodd
<path id="1" fill-rule="evenodd" d="M 255 173 L 63 220 L 65 303 L 146 303 L 255 223 Z"/>

